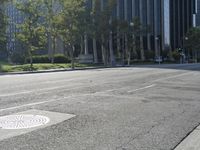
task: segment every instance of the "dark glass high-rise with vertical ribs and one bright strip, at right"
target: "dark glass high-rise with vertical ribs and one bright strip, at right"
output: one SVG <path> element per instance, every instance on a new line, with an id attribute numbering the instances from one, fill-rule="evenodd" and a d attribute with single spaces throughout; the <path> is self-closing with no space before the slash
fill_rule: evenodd
<path id="1" fill-rule="evenodd" d="M 92 0 L 90 0 L 92 3 Z M 106 3 L 107 0 L 101 0 Z M 196 0 L 116 0 L 114 16 L 131 22 L 139 17 L 150 33 L 142 35 L 144 50 L 174 50 L 181 47 L 188 29 L 195 26 Z"/>

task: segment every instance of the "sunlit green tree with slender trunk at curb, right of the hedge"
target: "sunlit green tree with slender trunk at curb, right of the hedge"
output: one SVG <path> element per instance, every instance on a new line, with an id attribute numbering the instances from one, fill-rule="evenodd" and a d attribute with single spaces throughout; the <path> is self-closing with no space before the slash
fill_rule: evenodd
<path id="1" fill-rule="evenodd" d="M 84 2 L 84 0 L 61 0 L 63 8 L 57 22 L 64 45 L 69 48 L 72 69 L 75 67 L 75 45 L 79 44 L 80 37 L 83 35 L 80 25 L 83 19 L 81 16 L 86 10 Z"/>

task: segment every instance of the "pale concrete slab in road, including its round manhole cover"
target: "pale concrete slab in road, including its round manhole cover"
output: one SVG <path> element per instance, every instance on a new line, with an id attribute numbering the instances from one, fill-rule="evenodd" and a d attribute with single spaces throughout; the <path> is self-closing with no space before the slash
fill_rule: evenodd
<path id="1" fill-rule="evenodd" d="M 0 141 L 57 125 L 75 117 L 72 114 L 31 109 L 0 117 Z M 67 123 L 67 122 L 66 122 Z M 40 130 L 41 132 L 42 130 Z"/>

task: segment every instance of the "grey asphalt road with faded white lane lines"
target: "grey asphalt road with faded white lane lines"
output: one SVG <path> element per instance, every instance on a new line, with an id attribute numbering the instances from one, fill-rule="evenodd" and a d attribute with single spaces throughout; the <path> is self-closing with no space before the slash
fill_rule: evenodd
<path id="1" fill-rule="evenodd" d="M 75 117 L 0 150 L 171 150 L 200 124 L 200 64 L 0 76 L 0 116 L 30 109 Z"/>

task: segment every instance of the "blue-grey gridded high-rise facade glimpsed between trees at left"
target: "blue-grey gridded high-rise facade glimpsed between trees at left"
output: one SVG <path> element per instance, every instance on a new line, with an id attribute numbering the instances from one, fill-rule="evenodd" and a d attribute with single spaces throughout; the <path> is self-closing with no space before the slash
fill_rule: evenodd
<path id="1" fill-rule="evenodd" d="M 22 0 L 18 0 L 19 2 Z M 53 9 L 57 11 L 60 10 L 59 8 L 60 6 L 55 3 L 53 5 Z M 6 30 L 6 34 L 7 34 L 7 51 L 10 53 L 8 55 L 12 55 L 12 53 L 18 53 L 19 51 L 21 51 L 23 48 L 21 47 L 21 43 L 19 43 L 19 40 L 17 40 L 17 33 L 20 32 L 20 29 L 18 27 L 18 25 L 22 24 L 25 20 L 25 15 L 23 13 L 21 13 L 15 6 L 13 1 L 7 2 L 6 3 L 6 15 L 8 17 L 8 26 L 7 26 L 7 30 Z M 41 17 L 40 22 L 44 22 L 44 18 Z M 48 51 L 38 51 L 41 54 L 52 54 L 53 50 L 52 50 L 52 39 L 48 38 Z M 61 41 L 60 38 L 57 38 L 56 40 L 56 52 L 57 53 L 63 53 L 64 52 L 64 48 L 63 48 L 63 42 Z"/>

